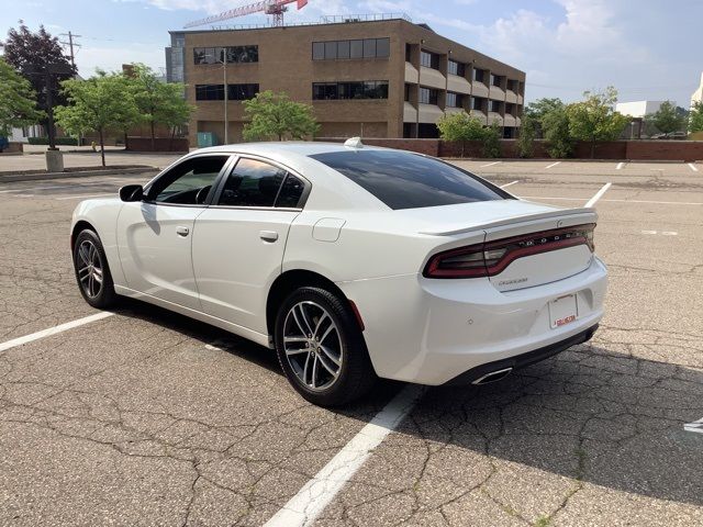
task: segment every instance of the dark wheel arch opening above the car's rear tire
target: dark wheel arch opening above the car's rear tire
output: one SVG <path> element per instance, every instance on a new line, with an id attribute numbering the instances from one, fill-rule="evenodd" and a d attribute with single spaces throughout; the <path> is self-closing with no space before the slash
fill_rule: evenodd
<path id="1" fill-rule="evenodd" d="M 359 329 L 364 332 L 364 322 L 361 321 L 361 316 L 356 304 L 354 301 L 348 299 L 332 280 L 319 272 L 310 271 L 308 269 L 291 269 L 279 274 L 269 289 L 268 298 L 266 300 L 266 328 L 269 335 L 274 335 L 278 306 L 290 293 L 302 287 L 326 289 L 347 302 L 356 317 Z"/>

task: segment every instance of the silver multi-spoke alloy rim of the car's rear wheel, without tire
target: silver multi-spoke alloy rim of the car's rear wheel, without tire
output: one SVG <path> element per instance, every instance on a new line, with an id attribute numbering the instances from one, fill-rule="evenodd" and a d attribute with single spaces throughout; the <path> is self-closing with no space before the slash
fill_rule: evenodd
<path id="1" fill-rule="evenodd" d="M 342 337 L 330 313 L 315 302 L 298 302 L 289 310 L 283 350 L 293 373 L 309 390 L 326 390 L 339 378 Z"/>

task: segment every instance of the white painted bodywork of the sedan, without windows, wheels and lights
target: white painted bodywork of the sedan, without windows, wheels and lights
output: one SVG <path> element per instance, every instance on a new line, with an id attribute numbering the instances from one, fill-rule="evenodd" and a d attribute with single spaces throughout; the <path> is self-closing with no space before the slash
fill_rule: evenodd
<path id="1" fill-rule="evenodd" d="M 595 223 L 592 209 L 494 200 L 391 210 L 309 157 L 347 149 L 324 143 L 246 144 L 185 157 L 215 153 L 278 164 L 310 183 L 302 210 L 98 199 L 78 204 L 72 226 L 87 222 L 98 232 L 119 294 L 261 345 L 270 346 L 266 304 L 277 277 L 292 270 L 319 273 L 354 301 L 373 368 L 389 379 L 442 384 L 486 362 L 579 335 L 603 316 L 607 273 L 585 246 L 517 259 L 491 278 L 423 276 L 436 253 Z M 189 235 L 179 236 L 180 227 Z M 275 232 L 277 239 L 263 239 L 263 232 Z M 549 302 L 567 294 L 577 299 L 578 318 L 553 329 Z"/>

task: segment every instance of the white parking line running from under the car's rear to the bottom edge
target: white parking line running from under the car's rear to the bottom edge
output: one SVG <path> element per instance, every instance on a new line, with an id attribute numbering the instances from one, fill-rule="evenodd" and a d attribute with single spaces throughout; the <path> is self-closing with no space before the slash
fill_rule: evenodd
<path id="1" fill-rule="evenodd" d="M 405 386 L 265 526 L 302 527 L 312 525 L 320 513 L 371 456 L 371 451 L 412 411 L 423 393 L 422 386 L 417 384 Z"/>

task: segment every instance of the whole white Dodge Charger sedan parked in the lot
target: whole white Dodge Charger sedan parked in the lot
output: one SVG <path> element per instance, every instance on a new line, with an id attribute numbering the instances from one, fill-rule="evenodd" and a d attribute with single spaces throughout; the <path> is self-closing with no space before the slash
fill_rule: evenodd
<path id="1" fill-rule="evenodd" d="M 345 144 L 203 148 L 81 202 L 76 278 L 276 349 L 306 400 L 380 378 L 482 384 L 591 338 L 596 214 L 520 200 L 432 157 Z"/>

